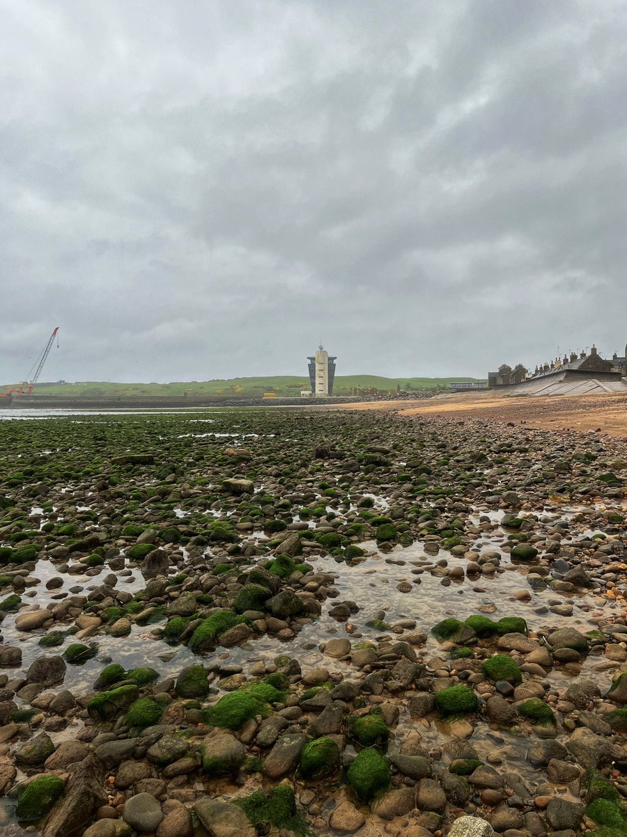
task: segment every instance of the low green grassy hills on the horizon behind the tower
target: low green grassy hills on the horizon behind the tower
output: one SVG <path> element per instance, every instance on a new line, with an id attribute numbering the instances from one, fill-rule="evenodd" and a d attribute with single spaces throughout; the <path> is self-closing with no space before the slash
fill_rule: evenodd
<path id="1" fill-rule="evenodd" d="M 378 375 L 337 375 L 334 395 L 357 395 L 374 392 L 394 393 L 397 386 L 415 391 L 447 387 L 451 381 L 476 381 L 474 377 L 379 377 Z M 17 386 L 17 385 L 13 385 Z M 0 392 L 11 389 L 7 384 Z M 169 395 L 241 395 L 262 396 L 276 393 L 278 396 L 299 396 L 301 390 L 309 389 L 308 378 L 296 375 L 274 375 L 268 377 L 235 377 L 227 381 L 181 381 L 175 383 L 111 383 L 109 381 L 85 381 L 80 383 L 46 384 L 38 383 L 38 395 L 75 396 L 135 396 Z"/>

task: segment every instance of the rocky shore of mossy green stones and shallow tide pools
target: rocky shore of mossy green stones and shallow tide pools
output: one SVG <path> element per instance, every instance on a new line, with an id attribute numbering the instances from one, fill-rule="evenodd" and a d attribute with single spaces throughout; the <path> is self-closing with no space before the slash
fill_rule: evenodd
<path id="1" fill-rule="evenodd" d="M 0 834 L 627 834 L 624 439 L 308 408 L 0 437 Z"/>

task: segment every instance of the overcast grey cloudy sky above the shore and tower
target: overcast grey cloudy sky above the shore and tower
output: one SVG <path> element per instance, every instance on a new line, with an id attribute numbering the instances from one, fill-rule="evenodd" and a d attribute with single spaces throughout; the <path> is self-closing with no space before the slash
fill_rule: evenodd
<path id="1" fill-rule="evenodd" d="M 623 353 L 623 0 L 0 13 L 0 381 Z"/>

